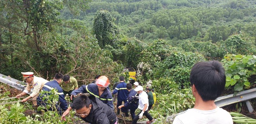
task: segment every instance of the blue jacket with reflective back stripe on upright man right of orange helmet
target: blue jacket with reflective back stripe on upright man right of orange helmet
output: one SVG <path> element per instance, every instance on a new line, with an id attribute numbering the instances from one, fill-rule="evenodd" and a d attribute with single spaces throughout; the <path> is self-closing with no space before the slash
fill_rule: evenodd
<path id="1" fill-rule="evenodd" d="M 120 82 L 112 94 L 118 93 L 118 101 L 126 101 L 128 97 L 128 90 L 126 88 L 126 83 L 125 82 Z"/>

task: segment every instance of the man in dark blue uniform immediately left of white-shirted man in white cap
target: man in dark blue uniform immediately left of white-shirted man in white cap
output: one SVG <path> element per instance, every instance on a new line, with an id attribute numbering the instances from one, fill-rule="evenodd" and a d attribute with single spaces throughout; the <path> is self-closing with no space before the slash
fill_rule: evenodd
<path id="1" fill-rule="evenodd" d="M 123 110 L 122 107 L 125 107 L 127 110 L 130 109 L 131 119 L 133 119 L 135 117 L 135 110 L 138 108 L 138 97 L 135 97 L 137 92 L 132 89 L 131 83 L 128 83 L 126 85 L 126 88 L 129 92 L 127 102 L 123 105 L 118 106 L 118 109 L 121 109 L 121 111 Z"/>

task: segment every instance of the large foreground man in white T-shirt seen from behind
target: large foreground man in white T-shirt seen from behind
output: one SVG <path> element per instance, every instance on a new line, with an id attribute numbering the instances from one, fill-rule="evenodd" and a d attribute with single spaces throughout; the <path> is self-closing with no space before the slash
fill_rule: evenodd
<path id="1" fill-rule="evenodd" d="M 173 124 L 233 124 L 230 114 L 214 104 L 225 88 L 225 70 L 220 62 L 196 63 L 190 72 L 195 106 L 175 117 Z"/>

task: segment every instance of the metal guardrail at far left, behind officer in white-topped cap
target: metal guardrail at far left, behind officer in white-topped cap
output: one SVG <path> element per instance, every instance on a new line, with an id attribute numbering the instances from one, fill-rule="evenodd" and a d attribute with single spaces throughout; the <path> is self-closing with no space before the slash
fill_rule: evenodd
<path id="1" fill-rule="evenodd" d="M 11 77 L 3 75 L 3 74 L 0 74 L 0 82 L 5 83 L 5 84 L 7 84 L 13 88 L 16 88 L 18 90 L 21 90 L 21 91 L 24 91 L 26 88 L 26 85 L 21 84 L 24 82 L 21 82 L 19 80 L 16 80 L 14 78 L 11 78 Z M 32 93 L 32 89 L 28 94 L 31 94 L 31 93 Z"/>

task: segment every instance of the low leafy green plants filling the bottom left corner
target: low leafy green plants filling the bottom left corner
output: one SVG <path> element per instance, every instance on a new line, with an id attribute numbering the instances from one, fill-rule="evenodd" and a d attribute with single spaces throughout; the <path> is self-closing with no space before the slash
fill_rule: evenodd
<path id="1" fill-rule="evenodd" d="M 56 90 L 50 92 L 56 92 Z M 10 94 L 10 92 L 5 92 L 4 94 L 0 93 L 0 99 L 8 98 L 8 94 Z M 44 99 L 48 99 L 47 102 L 54 104 L 55 106 L 55 102 L 58 98 L 58 95 L 48 95 Z M 3 102 L 15 100 L 17 99 L 4 100 Z M 31 115 L 26 116 L 24 113 L 26 113 L 26 111 L 31 111 L 31 109 L 31 104 L 19 104 L 19 102 L 16 104 L 0 105 L 0 124 L 70 124 L 76 121 L 75 119 L 71 119 L 74 116 L 74 112 L 71 112 L 70 116 L 66 117 L 67 121 L 61 121 L 61 116 L 58 114 L 57 110 L 43 111 L 42 115 L 30 113 Z M 38 107 L 38 110 L 40 109 L 42 108 Z"/>

